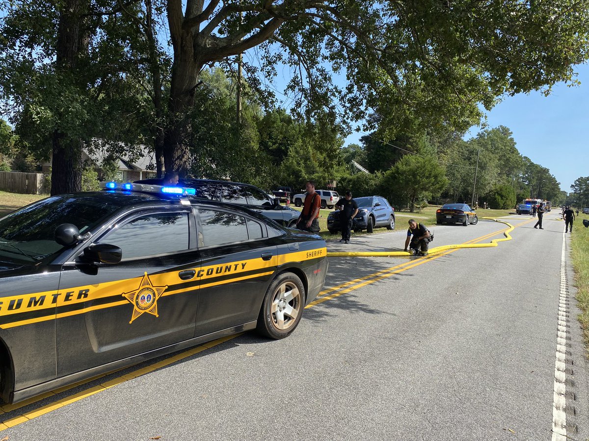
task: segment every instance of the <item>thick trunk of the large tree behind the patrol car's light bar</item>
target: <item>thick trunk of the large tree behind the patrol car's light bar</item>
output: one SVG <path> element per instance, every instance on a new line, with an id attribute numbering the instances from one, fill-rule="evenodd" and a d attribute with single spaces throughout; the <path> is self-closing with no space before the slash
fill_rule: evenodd
<path id="1" fill-rule="evenodd" d="M 194 88 L 203 67 L 195 59 L 193 36 L 182 32 L 180 48 L 174 51 L 174 63 L 170 85 L 170 108 L 164 130 L 164 165 L 180 177 L 190 169 L 190 111 L 194 106 Z"/>

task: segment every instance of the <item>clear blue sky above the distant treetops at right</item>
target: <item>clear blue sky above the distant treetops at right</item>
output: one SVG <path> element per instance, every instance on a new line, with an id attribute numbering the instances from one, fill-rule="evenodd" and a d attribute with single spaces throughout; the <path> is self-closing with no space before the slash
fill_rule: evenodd
<path id="1" fill-rule="evenodd" d="M 589 176 L 589 65 L 575 71 L 580 86 L 558 84 L 550 96 L 507 96 L 487 114 L 489 127 L 511 129 L 519 152 L 549 168 L 566 192 L 575 179 Z M 479 130 L 472 127 L 471 135 Z M 360 136 L 352 133 L 345 145 L 358 143 Z"/>

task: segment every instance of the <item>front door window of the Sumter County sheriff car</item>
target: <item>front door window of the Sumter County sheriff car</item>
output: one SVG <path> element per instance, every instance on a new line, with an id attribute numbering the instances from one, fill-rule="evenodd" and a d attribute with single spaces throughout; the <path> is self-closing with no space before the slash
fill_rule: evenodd
<path id="1" fill-rule="evenodd" d="M 187 250 L 188 213 L 154 213 L 125 223 L 100 239 L 123 251 L 123 259 L 133 259 Z"/>

